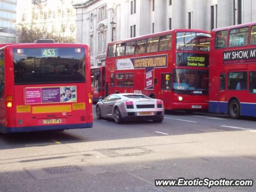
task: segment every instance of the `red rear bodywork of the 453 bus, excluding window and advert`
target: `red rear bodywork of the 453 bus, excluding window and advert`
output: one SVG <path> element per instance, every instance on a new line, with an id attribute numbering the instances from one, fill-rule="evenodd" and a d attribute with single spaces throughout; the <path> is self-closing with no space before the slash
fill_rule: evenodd
<path id="1" fill-rule="evenodd" d="M 84 48 L 85 82 L 65 84 L 14 84 L 14 48 Z M 83 44 L 18 44 L 4 48 L 5 87 L 4 96 L 0 102 L 0 132 L 30 132 L 43 130 L 64 130 L 92 127 L 92 103 L 90 83 L 90 53 L 89 47 Z M 49 88 L 61 86 L 76 86 L 76 102 L 65 103 L 25 103 L 25 88 Z M 12 96 L 12 107 L 6 107 L 6 96 Z M 22 111 L 22 107 L 25 111 Z M 29 109 L 30 108 L 30 109 Z M 60 108 L 56 110 L 56 108 Z M 3 109 L 3 110 L 2 110 Z M 54 110 L 54 112 L 51 112 Z M 56 110 L 56 111 L 55 111 Z M 63 110 L 63 111 L 62 111 Z M 58 124 L 44 124 L 43 120 L 58 119 Z"/>

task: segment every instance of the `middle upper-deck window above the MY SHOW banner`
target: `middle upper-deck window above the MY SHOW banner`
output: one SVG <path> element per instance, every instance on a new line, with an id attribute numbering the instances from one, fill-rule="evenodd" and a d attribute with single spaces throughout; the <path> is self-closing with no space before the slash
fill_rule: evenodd
<path id="1" fill-rule="evenodd" d="M 229 47 L 248 45 L 249 27 L 230 30 Z"/>

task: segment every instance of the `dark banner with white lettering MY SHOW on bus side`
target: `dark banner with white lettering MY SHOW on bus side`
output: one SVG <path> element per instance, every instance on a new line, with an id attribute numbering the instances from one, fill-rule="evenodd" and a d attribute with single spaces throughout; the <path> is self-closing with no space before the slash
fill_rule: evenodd
<path id="1" fill-rule="evenodd" d="M 223 52 L 223 64 L 256 62 L 256 49 L 240 49 Z"/>

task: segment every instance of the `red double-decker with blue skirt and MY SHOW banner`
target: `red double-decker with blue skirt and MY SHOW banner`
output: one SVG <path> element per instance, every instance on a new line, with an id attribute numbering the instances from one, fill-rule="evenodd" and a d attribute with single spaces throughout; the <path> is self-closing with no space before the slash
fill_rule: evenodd
<path id="1" fill-rule="evenodd" d="M 256 22 L 212 31 L 209 111 L 256 116 Z"/>

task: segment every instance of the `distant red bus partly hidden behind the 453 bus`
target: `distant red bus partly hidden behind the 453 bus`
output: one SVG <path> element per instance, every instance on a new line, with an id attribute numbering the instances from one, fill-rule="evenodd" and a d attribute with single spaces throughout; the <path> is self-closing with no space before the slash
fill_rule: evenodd
<path id="1" fill-rule="evenodd" d="M 105 96 L 105 66 L 91 68 L 92 101 L 98 102 Z"/>

